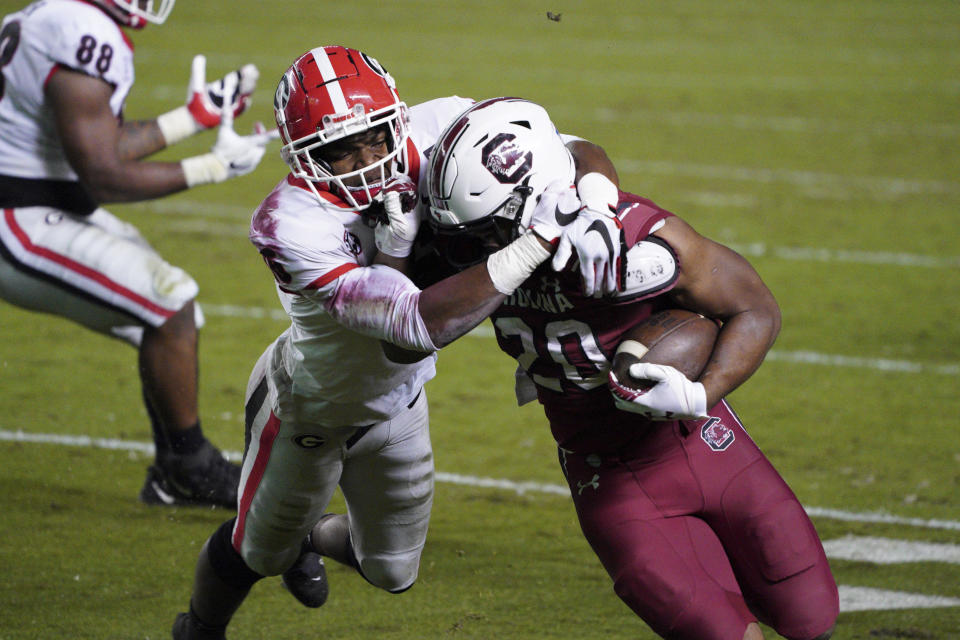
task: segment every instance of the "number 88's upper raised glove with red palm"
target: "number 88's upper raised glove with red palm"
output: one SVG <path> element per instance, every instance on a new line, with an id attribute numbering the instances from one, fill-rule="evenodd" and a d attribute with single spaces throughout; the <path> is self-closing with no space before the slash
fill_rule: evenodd
<path id="1" fill-rule="evenodd" d="M 203 55 L 193 58 L 190 84 L 187 87 L 187 103 L 157 118 L 157 125 L 167 145 L 179 142 L 198 131 L 221 124 L 227 111 L 236 117 L 250 106 L 260 72 L 247 64 L 231 71 L 220 80 L 206 82 L 207 59 Z M 232 80 L 230 87 L 227 83 Z"/>

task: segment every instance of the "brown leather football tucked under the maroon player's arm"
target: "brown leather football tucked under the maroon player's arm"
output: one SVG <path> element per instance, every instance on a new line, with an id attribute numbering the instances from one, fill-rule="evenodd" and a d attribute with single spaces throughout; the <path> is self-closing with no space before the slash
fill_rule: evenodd
<path id="1" fill-rule="evenodd" d="M 660 311 L 623 335 L 611 369 L 620 384 L 638 390 L 651 383 L 630 375 L 630 365 L 637 362 L 667 364 L 696 380 L 710 359 L 719 330 L 716 322 L 693 311 Z"/>

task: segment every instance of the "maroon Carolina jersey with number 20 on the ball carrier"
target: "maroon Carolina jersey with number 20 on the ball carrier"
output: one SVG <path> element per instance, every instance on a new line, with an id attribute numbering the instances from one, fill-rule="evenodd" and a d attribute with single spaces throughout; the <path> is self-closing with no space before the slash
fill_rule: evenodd
<path id="1" fill-rule="evenodd" d="M 623 191 L 618 204 L 627 246 L 643 240 L 670 212 Z M 610 298 L 584 297 L 577 270 L 542 265 L 491 316 L 500 348 L 516 358 L 536 384 L 554 438 L 576 448 L 596 439 L 606 445 L 617 433 L 636 433 L 637 414 L 613 404 L 607 373 L 621 336 L 659 310 L 659 294 L 674 280 L 639 299 L 611 304 Z M 610 410 L 622 425 L 595 418 Z M 596 428 L 598 433 L 591 433 Z M 601 433 L 602 432 L 602 433 Z"/>

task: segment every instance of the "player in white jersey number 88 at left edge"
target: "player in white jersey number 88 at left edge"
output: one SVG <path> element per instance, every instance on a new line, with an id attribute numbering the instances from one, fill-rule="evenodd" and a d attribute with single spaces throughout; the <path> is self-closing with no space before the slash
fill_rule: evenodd
<path id="1" fill-rule="evenodd" d="M 240 471 L 203 435 L 197 407 L 197 284 L 100 207 L 252 171 L 271 134 L 239 136 L 253 65 L 207 84 L 194 59 L 187 104 L 125 121 L 134 82 L 123 28 L 162 23 L 174 0 L 38 0 L 0 27 L 0 299 L 138 349 L 156 461 L 152 504 L 235 507 Z M 141 161 L 219 126 L 210 153 Z M 262 127 L 261 127 L 262 128 Z"/>

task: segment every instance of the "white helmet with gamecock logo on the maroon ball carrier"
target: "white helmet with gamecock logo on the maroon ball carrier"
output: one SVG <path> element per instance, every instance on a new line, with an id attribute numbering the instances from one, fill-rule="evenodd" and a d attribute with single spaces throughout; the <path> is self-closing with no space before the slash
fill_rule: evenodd
<path id="1" fill-rule="evenodd" d="M 444 257 L 462 267 L 513 240 L 530 226 L 547 186 L 573 184 L 575 173 L 573 156 L 540 105 L 521 98 L 472 105 L 440 134 L 427 169 L 429 222 Z M 483 249 L 476 242 L 468 248 L 468 238 L 484 237 Z"/>

